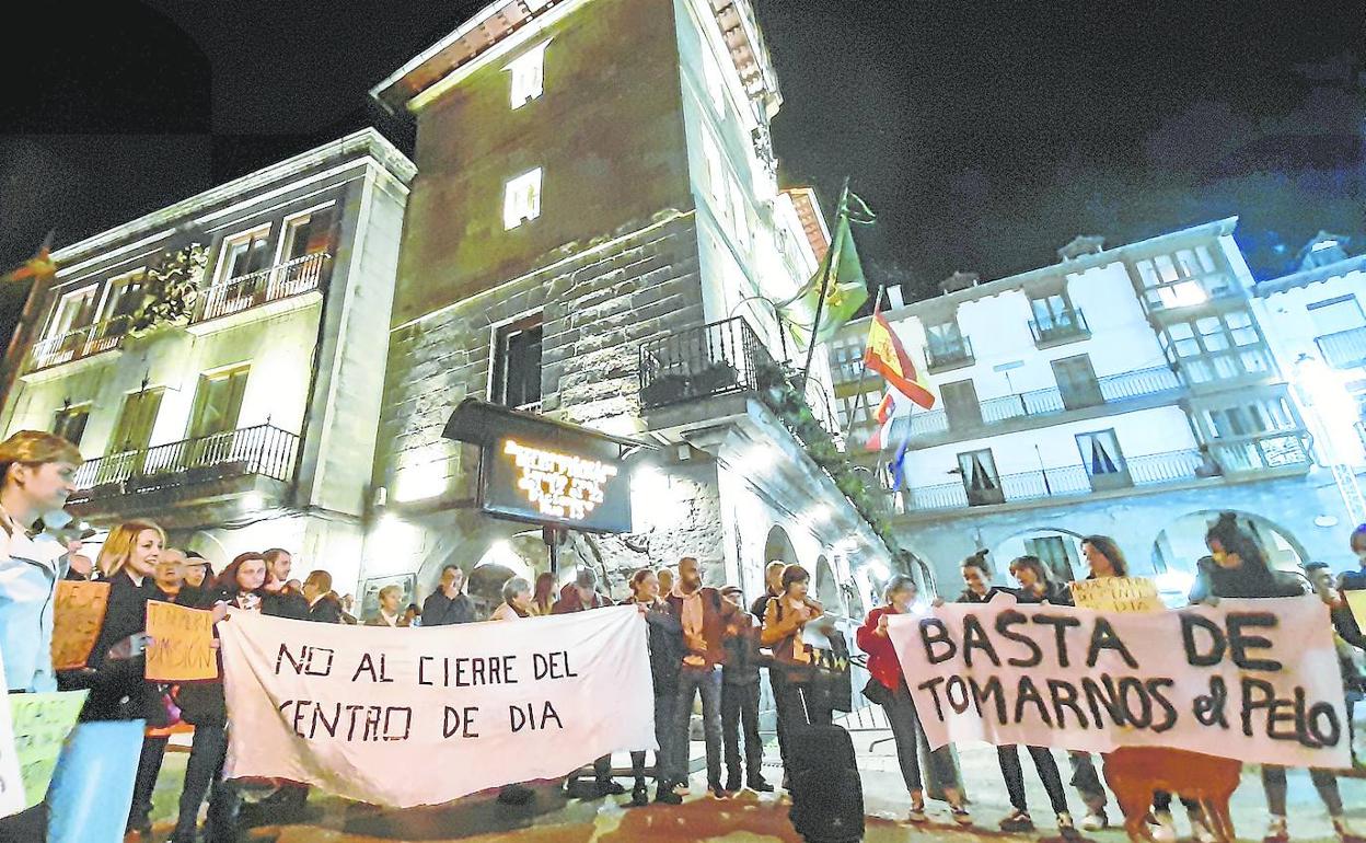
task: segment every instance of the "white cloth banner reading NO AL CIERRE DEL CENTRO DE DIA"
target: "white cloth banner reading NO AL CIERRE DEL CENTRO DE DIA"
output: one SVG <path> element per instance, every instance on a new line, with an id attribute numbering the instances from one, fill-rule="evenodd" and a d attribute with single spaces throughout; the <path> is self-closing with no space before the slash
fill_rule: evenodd
<path id="1" fill-rule="evenodd" d="M 231 777 L 414 807 L 656 749 L 635 607 L 411 630 L 232 612 L 219 635 Z"/>

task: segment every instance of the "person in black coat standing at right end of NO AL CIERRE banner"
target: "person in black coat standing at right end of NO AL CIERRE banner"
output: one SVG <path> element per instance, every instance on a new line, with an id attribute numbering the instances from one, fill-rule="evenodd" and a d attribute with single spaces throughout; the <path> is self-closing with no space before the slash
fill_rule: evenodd
<path id="1" fill-rule="evenodd" d="M 683 646 L 683 623 L 660 600 L 660 578 L 650 568 L 641 568 L 631 577 L 631 597 L 623 605 L 643 605 L 650 633 L 650 679 L 654 682 L 654 739 L 660 749 L 654 753 L 654 801 L 679 805 L 683 797 L 673 792 L 673 769 L 678 760 L 672 741 L 673 701 L 678 697 L 679 665 L 687 650 Z M 684 750 L 686 751 L 686 750 Z M 684 761 L 686 764 L 686 761 Z M 645 805 L 645 753 L 631 753 L 631 772 L 635 787 L 631 803 Z"/>

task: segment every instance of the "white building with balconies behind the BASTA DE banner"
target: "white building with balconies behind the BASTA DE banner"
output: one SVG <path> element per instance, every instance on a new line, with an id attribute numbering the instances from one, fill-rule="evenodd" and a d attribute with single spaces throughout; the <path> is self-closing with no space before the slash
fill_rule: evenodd
<path id="1" fill-rule="evenodd" d="M 1220 511 L 1239 512 L 1279 566 L 1348 563 L 1347 507 L 1258 318 L 1235 224 L 1093 242 L 985 284 L 955 276 L 887 314 L 938 398 L 903 422 L 895 519 L 941 590 L 982 548 L 1001 581 L 1023 553 L 1083 577 L 1081 538 L 1106 534 L 1176 600 Z M 833 351 L 854 452 L 882 388 L 862 377 L 866 332 L 851 324 Z"/>

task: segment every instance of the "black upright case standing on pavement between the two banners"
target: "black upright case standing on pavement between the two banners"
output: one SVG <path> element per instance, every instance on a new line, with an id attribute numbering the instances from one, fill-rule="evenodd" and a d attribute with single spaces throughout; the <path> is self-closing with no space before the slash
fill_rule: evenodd
<path id="1" fill-rule="evenodd" d="M 863 783 L 854 742 L 839 725 L 806 725 L 788 735 L 788 817 L 806 843 L 856 843 L 863 839 Z"/>

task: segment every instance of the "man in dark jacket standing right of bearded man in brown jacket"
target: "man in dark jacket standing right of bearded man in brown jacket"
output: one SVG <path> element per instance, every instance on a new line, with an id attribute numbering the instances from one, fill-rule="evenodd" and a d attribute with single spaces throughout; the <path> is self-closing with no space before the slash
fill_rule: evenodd
<path id="1" fill-rule="evenodd" d="M 743 607 L 744 592 L 729 585 L 721 597 Z M 725 746 L 725 788 L 740 790 L 740 727 L 744 727 L 744 782 L 750 790 L 772 792 L 764 780 L 764 742 L 759 739 L 759 627 L 740 611 L 725 637 L 721 667 L 721 742 Z"/>

